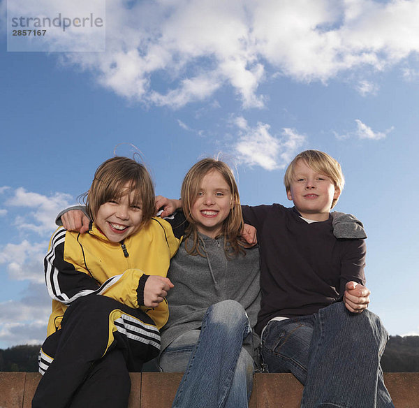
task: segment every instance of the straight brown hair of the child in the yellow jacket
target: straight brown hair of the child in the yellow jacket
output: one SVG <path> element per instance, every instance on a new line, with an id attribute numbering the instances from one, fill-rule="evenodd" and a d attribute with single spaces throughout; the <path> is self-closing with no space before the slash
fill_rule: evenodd
<path id="1" fill-rule="evenodd" d="M 89 191 L 82 196 L 89 217 L 95 220 L 101 205 L 125 194 L 131 194 L 131 191 L 134 192 L 133 203 L 140 205 L 142 210 L 140 227 L 145 226 L 156 212 L 154 186 L 147 168 L 133 159 L 122 156 L 104 161 L 94 173 Z"/>

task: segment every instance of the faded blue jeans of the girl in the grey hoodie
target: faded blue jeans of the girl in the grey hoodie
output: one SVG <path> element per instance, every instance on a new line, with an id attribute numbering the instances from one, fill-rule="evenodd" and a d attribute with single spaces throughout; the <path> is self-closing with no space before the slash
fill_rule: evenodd
<path id="1" fill-rule="evenodd" d="M 177 337 L 161 354 L 163 372 L 184 372 L 173 408 L 247 408 L 253 358 L 242 347 L 251 333 L 240 303 L 223 300 L 207 309 L 200 330 Z"/>

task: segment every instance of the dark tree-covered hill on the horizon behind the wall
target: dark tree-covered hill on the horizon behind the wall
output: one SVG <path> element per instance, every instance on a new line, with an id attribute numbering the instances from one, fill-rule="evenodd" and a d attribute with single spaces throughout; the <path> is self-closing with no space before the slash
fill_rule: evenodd
<path id="1" fill-rule="evenodd" d="M 40 346 L 15 346 L 0 349 L 0 371 L 38 371 Z M 384 372 L 419 372 L 419 336 L 390 336 L 381 366 Z M 155 371 L 147 363 L 145 371 Z"/>

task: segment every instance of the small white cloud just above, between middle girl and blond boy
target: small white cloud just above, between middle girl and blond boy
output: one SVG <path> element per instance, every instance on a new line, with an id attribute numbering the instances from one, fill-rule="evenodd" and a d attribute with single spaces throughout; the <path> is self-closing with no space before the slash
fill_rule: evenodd
<path id="1" fill-rule="evenodd" d="M 237 159 L 247 166 L 260 166 L 265 170 L 284 168 L 293 159 L 306 140 L 294 129 L 284 128 L 281 137 L 270 134 L 270 125 L 258 122 L 250 127 L 244 117 L 236 117 L 233 123 L 240 129 L 233 150 Z"/>

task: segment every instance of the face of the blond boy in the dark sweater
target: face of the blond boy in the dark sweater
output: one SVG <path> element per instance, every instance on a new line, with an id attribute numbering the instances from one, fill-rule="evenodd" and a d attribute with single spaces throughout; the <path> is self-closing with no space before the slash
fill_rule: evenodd
<path id="1" fill-rule="evenodd" d="M 286 195 L 302 217 L 325 221 L 329 218 L 332 201 L 339 198 L 340 190 L 330 177 L 317 173 L 299 159 L 295 163 L 293 180 Z"/>

